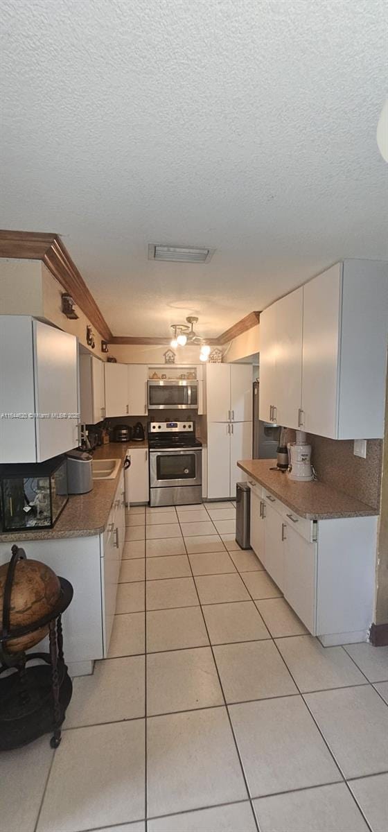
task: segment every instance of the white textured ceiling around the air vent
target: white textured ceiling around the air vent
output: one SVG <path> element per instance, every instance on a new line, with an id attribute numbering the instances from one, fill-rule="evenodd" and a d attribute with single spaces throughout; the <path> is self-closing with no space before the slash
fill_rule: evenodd
<path id="1" fill-rule="evenodd" d="M 388 259 L 385 0 L 2 0 L 0 227 L 54 231 L 113 334 L 218 335 Z M 149 242 L 209 245 L 154 263 Z"/>

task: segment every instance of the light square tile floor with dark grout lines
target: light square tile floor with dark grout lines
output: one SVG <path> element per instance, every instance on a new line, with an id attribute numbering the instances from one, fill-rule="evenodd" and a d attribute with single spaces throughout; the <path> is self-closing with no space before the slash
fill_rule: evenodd
<path id="1" fill-rule="evenodd" d="M 386 832 L 388 648 L 309 636 L 234 510 L 127 513 L 110 657 L 0 755 L 2 832 Z"/>

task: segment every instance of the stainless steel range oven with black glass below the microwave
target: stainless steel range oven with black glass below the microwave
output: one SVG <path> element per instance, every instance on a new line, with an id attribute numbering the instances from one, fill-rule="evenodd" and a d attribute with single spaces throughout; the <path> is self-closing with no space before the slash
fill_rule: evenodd
<path id="1" fill-rule="evenodd" d="M 150 422 L 150 506 L 202 503 L 202 443 L 195 422 Z"/>

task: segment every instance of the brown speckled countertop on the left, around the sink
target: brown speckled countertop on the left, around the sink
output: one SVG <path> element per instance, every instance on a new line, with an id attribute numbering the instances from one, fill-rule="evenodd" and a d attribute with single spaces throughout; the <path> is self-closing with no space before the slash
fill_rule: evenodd
<path id="1" fill-rule="evenodd" d="M 127 448 L 147 447 L 147 442 L 110 442 L 96 448 L 93 458 L 122 459 L 124 463 Z M 122 468 L 115 479 L 93 480 L 93 488 L 87 494 L 71 494 L 54 528 L 0 532 L 0 543 L 54 540 L 58 537 L 91 537 L 101 534 L 106 529 L 121 470 Z"/>

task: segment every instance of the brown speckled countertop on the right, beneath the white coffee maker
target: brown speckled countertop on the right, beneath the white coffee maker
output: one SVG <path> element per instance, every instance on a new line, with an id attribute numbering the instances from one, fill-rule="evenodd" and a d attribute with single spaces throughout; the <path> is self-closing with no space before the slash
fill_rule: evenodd
<path id="1" fill-rule="evenodd" d="M 237 464 L 256 483 L 263 485 L 299 517 L 307 520 L 361 518 L 378 514 L 376 508 L 336 491 L 326 483 L 297 483 L 286 473 L 271 471 L 276 459 L 243 459 Z"/>

